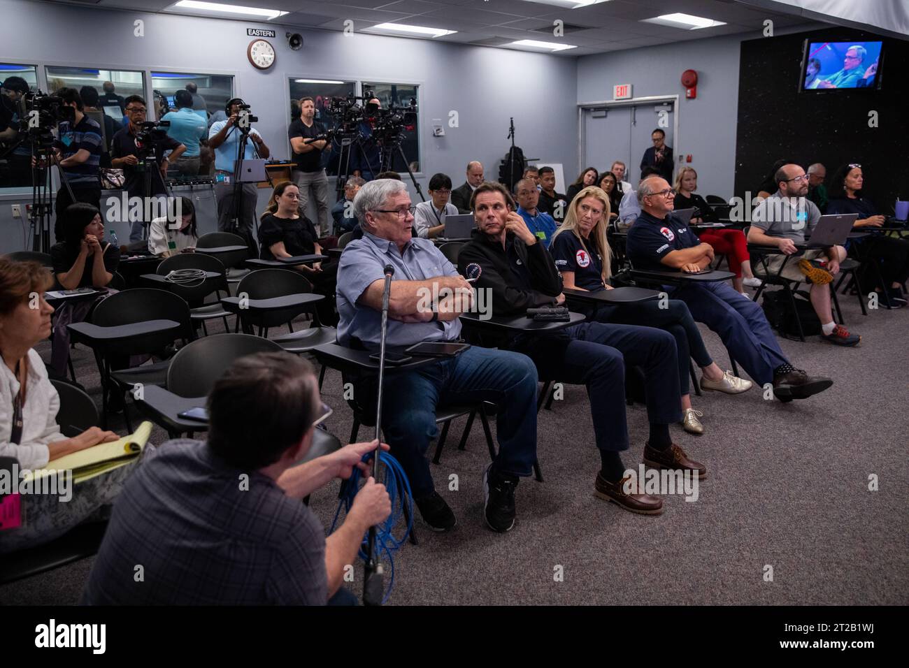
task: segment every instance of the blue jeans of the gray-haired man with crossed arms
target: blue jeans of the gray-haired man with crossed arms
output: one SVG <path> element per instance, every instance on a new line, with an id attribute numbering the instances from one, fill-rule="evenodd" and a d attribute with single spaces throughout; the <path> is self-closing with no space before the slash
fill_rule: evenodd
<path id="1" fill-rule="evenodd" d="M 527 476 L 536 461 L 536 368 L 523 354 L 476 346 L 454 358 L 389 375 L 382 427 L 391 454 L 401 463 L 415 498 L 433 494 L 425 453 L 438 436 L 440 405 L 498 405 L 495 432 L 499 473 Z"/>

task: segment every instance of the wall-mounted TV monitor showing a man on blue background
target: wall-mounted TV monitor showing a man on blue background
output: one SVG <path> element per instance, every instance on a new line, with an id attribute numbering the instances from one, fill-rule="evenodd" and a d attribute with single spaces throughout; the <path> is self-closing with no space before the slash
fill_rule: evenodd
<path id="1" fill-rule="evenodd" d="M 805 40 L 800 90 L 880 88 L 883 45 L 883 42 Z"/>

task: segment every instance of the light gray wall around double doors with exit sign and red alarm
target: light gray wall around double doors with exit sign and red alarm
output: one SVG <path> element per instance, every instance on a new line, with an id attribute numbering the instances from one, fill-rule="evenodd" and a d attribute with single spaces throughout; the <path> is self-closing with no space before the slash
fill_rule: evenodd
<path id="1" fill-rule="evenodd" d="M 751 37 L 754 35 L 749 35 Z M 730 197 L 735 174 L 739 44 L 742 39 L 741 35 L 734 35 L 584 55 L 577 62 L 578 103 L 611 100 L 613 86 L 618 84 L 633 85 L 634 97 L 679 95 L 679 136 L 673 146 L 674 154 L 692 155 L 691 166 L 697 170 L 698 192 Z M 681 77 L 686 69 L 697 71 L 697 97 L 694 100 L 684 99 Z M 632 159 L 640 162 L 646 148 L 647 145 L 633 147 Z"/>

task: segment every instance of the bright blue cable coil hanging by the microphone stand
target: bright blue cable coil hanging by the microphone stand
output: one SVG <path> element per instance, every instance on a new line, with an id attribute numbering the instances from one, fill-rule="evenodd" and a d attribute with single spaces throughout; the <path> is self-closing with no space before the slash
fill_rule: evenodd
<path id="1" fill-rule="evenodd" d="M 363 456 L 363 461 L 366 462 L 373 454 L 372 452 L 366 453 Z M 388 491 L 388 496 L 392 502 L 392 512 L 388 515 L 388 519 L 375 526 L 375 551 L 377 558 L 383 563 L 388 563 L 391 571 L 388 587 L 382 599 L 382 603 L 387 603 L 391 596 L 392 588 L 395 586 L 395 552 L 401 549 L 401 546 L 407 541 L 407 536 L 410 535 L 411 529 L 414 527 L 414 496 L 410 491 L 410 481 L 407 480 L 404 469 L 401 468 L 401 464 L 398 463 L 395 457 L 385 451 L 381 451 L 379 464 L 385 464 L 385 489 Z M 335 526 L 337 526 L 342 508 L 345 515 L 350 512 L 350 507 L 354 504 L 354 497 L 360 491 L 360 479 L 362 477 L 363 474 L 360 469 L 355 467 L 354 473 L 345 482 L 345 494 L 338 503 L 335 519 L 332 521 L 332 528 L 328 533 L 335 533 Z M 405 507 L 407 509 L 406 515 Z M 404 535 L 401 538 L 395 538 L 395 525 L 404 517 L 407 518 Z M 364 562 L 366 561 L 368 546 L 369 532 L 367 531 L 363 537 L 359 552 L 360 558 Z"/>

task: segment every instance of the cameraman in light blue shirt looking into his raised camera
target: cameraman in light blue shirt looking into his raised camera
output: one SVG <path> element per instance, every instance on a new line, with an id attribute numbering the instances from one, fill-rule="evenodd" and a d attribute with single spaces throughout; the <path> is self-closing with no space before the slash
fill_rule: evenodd
<path id="1" fill-rule="evenodd" d="M 249 105 L 235 97 L 225 105 L 226 121 L 213 123 L 208 129 L 208 145 L 215 151 L 215 199 L 218 204 L 218 229 L 222 232 L 233 232 L 244 237 L 253 257 L 259 251 L 253 234 L 255 209 L 258 200 L 256 184 L 241 184 L 238 188 L 239 201 L 235 199 L 235 166 L 237 160 L 252 160 L 256 156 L 267 158 L 271 155 L 262 135 L 255 130 L 252 123 L 258 121 L 249 113 Z M 248 137 L 248 141 L 247 140 Z M 240 155 L 240 145 L 245 145 Z M 232 229 L 236 219 L 236 228 Z"/>

